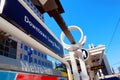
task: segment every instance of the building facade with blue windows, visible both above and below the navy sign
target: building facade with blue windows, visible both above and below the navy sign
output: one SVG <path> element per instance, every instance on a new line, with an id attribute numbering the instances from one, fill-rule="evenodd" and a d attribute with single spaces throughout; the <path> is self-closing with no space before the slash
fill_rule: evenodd
<path id="1" fill-rule="evenodd" d="M 33 10 L 33 12 L 39 17 L 41 21 L 44 22 L 44 16 L 41 14 L 38 9 L 34 6 L 31 0 L 24 0 L 24 2 Z M 1 31 L 1 30 L 0 30 Z M 48 68 L 52 68 L 52 62 L 47 60 L 47 55 L 41 53 L 40 51 L 28 46 L 24 42 L 16 39 L 15 37 L 8 37 L 3 40 L 4 32 L 0 33 L 0 55 L 27 61 L 29 63 L 34 63 L 42 65 Z M 19 34 L 18 34 L 19 36 Z"/>

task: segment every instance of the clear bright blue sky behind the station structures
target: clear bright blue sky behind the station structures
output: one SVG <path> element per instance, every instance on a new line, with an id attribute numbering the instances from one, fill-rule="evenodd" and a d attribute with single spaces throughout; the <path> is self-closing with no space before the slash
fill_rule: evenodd
<path id="1" fill-rule="evenodd" d="M 79 26 L 88 44 L 105 45 L 109 64 L 117 71 L 120 66 L 120 0 L 60 0 L 64 13 L 62 17 L 67 26 Z M 60 40 L 61 29 L 47 13 L 45 23 Z M 79 34 L 79 33 L 78 33 Z M 73 35 L 76 42 L 81 35 Z M 66 41 L 69 43 L 69 41 Z"/>

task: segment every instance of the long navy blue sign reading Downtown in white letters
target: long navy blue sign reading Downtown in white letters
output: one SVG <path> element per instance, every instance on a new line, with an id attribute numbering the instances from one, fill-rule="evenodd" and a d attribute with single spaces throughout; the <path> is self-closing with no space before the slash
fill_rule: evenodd
<path id="1" fill-rule="evenodd" d="M 24 0 L 6 0 L 2 17 L 25 31 L 27 34 L 30 34 L 34 39 L 62 57 L 62 45 L 22 6 L 19 1 Z"/>

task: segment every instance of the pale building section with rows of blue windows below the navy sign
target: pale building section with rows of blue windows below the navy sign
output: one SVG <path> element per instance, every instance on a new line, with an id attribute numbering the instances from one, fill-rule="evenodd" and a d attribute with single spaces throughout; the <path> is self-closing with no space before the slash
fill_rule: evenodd
<path id="1" fill-rule="evenodd" d="M 18 42 L 17 59 L 53 68 L 52 62 L 47 60 L 47 55 L 28 46 L 23 42 Z"/>

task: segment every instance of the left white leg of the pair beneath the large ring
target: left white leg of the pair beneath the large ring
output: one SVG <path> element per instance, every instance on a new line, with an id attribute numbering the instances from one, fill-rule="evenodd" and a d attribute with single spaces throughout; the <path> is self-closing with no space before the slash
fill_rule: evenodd
<path id="1" fill-rule="evenodd" d="M 72 65 L 72 71 L 74 74 L 74 80 L 80 80 L 80 74 L 78 73 L 78 67 L 77 63 L 75 60 L 74 52 L 69 52 L 70 53 L 70 60 L 71 60 L 71 65 Z"/>

